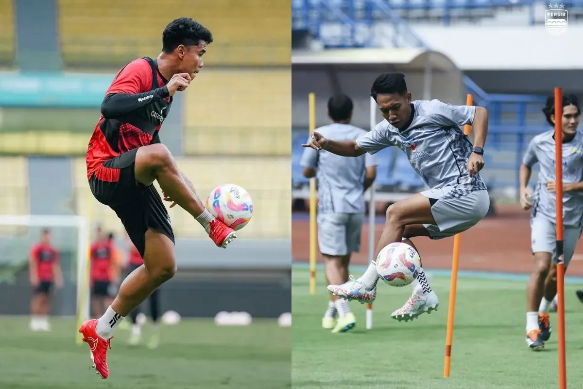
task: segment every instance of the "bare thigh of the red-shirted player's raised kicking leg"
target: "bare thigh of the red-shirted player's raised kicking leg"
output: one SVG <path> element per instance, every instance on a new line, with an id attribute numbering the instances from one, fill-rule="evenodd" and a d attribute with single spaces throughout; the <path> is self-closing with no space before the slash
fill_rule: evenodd
<path id="1" fill-rule="evenodd" d="M 136 152 L 134 174 L 136 181 L 146 187 L 152 185 L 161 169 L 175 165 L 170 150 L 161 143 L 141 146 Z"/>

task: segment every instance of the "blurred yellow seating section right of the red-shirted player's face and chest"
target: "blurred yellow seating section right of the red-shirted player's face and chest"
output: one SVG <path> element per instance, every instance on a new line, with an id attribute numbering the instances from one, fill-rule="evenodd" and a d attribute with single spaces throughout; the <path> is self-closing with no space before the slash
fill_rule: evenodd
<path id="1" fill-rule="evenodd" d="M 290 155 L 290 69 L 207 69 L 187 89 L 188 155 Z"/>

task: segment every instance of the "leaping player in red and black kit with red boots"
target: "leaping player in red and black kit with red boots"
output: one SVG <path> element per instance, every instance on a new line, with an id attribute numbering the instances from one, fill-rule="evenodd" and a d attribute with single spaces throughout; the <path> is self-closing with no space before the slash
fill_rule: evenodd
<path id="1" fill-rule="evenodd" d="M 217 246 L 224 248 L 236 238 L 233 229 L 206 210 L 159 136 L 174 93 L 185 90 L 201 71 L 212 41 L 210 31 L 188 17 L 170 22 L 156 59 L 136 59 L 117 73 L 89 141 L 87 178 L 93 195 L 117 213 L 144 261 L 122 282 L 106 313 L 79 329 L 104 379 L 115 327 L 176 271 L 174 233 L 154 181 L 164 197 L 201 223 Z"/>

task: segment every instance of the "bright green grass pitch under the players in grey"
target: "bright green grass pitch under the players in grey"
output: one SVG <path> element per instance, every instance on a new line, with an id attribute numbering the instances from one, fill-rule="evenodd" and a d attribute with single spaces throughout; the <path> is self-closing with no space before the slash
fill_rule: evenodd
<path id="1" fill-rule="evenodd" d="M 360 272 L 357 272 L 360 274 Z M 307 388 L 549 389 L 558 385 L 557 334 L 532 352 L 525 338 L 525 282 L 461 278 L 458 281 L 451 376 L 443 378 L 449 278 L 431 279 L 440 308 L 413 322 L 391 312 L 411 289 L 379 285 L 373 330 L 366 307 L 352 302 L 357 326 L 345 334 L 321 328 L 328 295 L 319 271 L 310 296 L 308 272 L 293 272 L 292 383 Z M 583 387 L 583 304 L 566 285 L 567 384 Z M 552 314 L 552 324 L 556 316 Z"/>

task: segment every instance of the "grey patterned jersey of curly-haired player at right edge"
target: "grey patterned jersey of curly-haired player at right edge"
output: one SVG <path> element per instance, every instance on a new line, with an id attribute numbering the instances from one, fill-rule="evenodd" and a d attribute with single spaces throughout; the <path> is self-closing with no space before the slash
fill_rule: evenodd
<path id="1" fill-rule="evenodd" d="M 543 216 L 555 223 L 556 197 L 546 190 L 546 181 L 554 181 L 554 130 L 543 132 L 532 138 L 522 163 L 532 167 L 540 163 L 535 191 L 532 194 L 532 216 Z M 583 181 L 583 134 L 577 131 L 575 138 L 563 143 L 563 182 Z M 563 193 L 563 225 L 581 227 L 583 223 L 583 192 Z"/>

